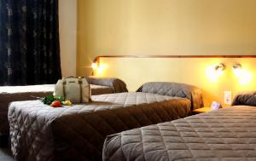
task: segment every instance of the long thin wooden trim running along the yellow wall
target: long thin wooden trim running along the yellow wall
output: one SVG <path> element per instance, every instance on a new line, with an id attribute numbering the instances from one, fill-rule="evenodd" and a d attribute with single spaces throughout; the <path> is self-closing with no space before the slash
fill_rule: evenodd
<path id="1" fill-rule="evenodd" d="M 101 58 L 256 58 L 256 55 L 100 55 L 93 62 L 100 62 Z"/>

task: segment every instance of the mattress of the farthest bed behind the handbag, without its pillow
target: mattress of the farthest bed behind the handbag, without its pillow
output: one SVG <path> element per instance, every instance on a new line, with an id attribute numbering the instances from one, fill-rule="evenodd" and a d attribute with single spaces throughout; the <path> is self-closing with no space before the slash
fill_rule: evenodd
<path id="1" fill-rule="evenodd" d="M 0 135 L 9 134 L 7 113 L 10 102 L 37 100 L 52 95 L 54 88 L 55 84 L 0 87 Z M 90 84 L 90 89 L 92 95 L 113 93 L 113 88 L 108 86 Z"/>

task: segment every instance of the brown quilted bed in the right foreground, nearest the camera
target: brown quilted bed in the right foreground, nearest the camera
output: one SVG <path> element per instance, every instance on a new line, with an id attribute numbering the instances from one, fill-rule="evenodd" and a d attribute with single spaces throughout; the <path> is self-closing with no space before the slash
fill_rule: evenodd
<path id="1" fill-rule="evenodd" d="M 103 160 L 256 160 L 256 92 L 233 106 L 108 135 Z"/>

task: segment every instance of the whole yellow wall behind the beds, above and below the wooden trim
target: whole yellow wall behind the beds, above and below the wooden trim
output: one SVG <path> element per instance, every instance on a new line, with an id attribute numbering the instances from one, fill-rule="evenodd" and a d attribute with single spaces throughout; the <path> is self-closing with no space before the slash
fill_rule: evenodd
<path id="1" fill-rule="evenodd" d="M 256 55 L 255 0 L 79 0 L 78 75 L 89 75 L 96 55 Z M 228 68 L 215 83 L 205 70 L 218 61 Z M 255 59 L 104 59 L 98 76 L 119 77 L 128 88 L 148 81 L 195 84 L 207 105 L 255 89 L 237 82 L 235 61 L 255 72 Z"/>

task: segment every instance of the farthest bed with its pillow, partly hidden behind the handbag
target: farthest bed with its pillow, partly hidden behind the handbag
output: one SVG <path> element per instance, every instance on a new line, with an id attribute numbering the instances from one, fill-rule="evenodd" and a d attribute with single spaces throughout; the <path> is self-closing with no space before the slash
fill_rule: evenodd
<path id="1" fill-rule="evenodd" d="M 127 92 L 126 84 L 118 78 L 86 78 L 92 95 Z M 55 84 L 0 87 L 0 136 L 9 134 L 8 106 L 12 101 L 37 100 L 52 95 Z M 1 142 L 1 141 L 0 141 Z"/>

